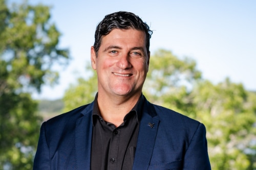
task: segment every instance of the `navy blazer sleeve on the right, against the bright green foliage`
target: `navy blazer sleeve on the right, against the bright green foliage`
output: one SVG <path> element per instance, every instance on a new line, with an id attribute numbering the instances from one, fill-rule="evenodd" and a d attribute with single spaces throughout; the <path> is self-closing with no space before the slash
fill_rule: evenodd
<path id="1" fill-rule="evenodd" d="M 184 156 L 183 169 L 211 169 L 207 151 L 206 129 L 199 124 Z"/>

